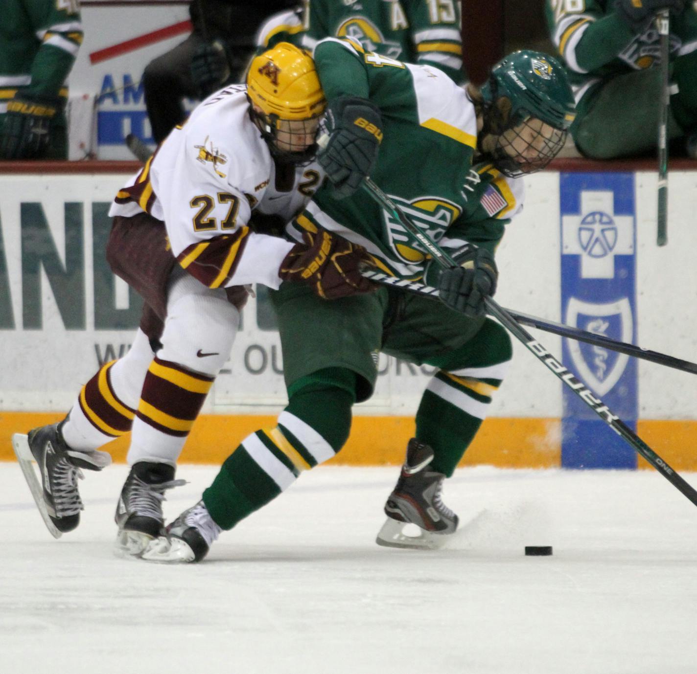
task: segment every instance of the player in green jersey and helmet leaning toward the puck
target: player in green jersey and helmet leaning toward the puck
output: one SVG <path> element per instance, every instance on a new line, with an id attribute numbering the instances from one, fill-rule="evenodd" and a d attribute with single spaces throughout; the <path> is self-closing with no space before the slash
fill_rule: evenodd
<path id="1" fill-rule="evenodd" d="M 378 352 L 437 370 L 378 543 L 436 547 L 457 528 L 441 498 L 443 480 L 480 428 L 512 357 L 506 331 L 484 316 L 498 277 L 493 251 L 522 207 L 519 178 L 544 168 L 565 141 L 572 92 L 561 66 L 539 52 L 504 59 L 481 91 L 353 40 L 323 40 L 314 58 L 328 100 L 319 162 L 329 182 L 291 223 L 291 237 L 339 233 L 384 272 L 439 288 L 441 302 L 385 286 L 325 301 L 282 284 L 272 301 L 289 404 L 275 428 L 233 450 L 202 501 L 144 552 L 147 560 L 201 560 L 222 529 L 334 456 L 348 438 L 353 403 L 372 394 Z M 366 175 L 462 266 L 438 269 L 359 191 Z M 405 523 L 416 524 L 420 537 L 405 536 Z"/>

